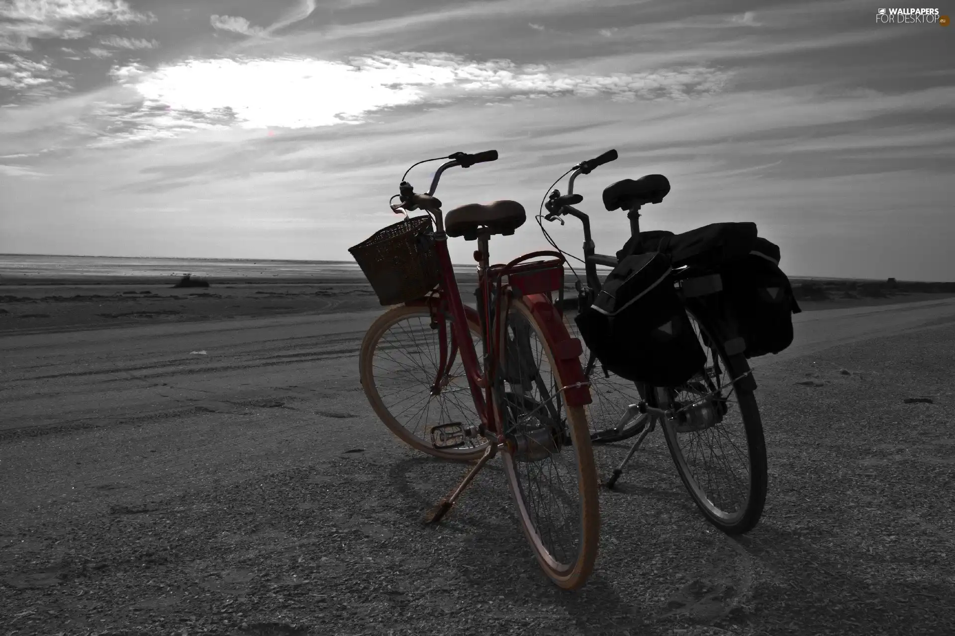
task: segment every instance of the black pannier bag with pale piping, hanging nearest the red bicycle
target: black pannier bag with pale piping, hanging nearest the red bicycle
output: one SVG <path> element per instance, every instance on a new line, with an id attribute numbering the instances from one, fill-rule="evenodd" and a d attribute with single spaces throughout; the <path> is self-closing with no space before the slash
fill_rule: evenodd
<path id="1" fill-rule="evenodd" d="M 706 354 L 673 288 L 669 257 L 626 256 L 593 305 L 575 321 L 606 371 L 625 380 L 678 386 L 703 369 Z"/>

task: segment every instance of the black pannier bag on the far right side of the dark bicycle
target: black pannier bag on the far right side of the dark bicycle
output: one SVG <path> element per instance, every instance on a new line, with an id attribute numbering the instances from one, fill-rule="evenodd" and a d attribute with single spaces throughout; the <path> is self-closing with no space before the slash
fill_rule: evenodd
<path id="1" fill-rule="evenodd" d="M 793 343 L 793 314 L 802 310 L 789 277 L 779 269 L 774 243 L 757 238 L 750 254 L 725 263 L 719 274 L 747 358 L 777 354 Z"/>

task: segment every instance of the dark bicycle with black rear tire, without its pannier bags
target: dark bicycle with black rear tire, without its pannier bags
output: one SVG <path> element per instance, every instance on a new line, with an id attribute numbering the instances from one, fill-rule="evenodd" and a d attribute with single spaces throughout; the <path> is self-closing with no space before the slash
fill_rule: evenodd
<path id="1" fill-rule="evenodd" d="M 550 193 L 543 207 L 548 221 L 563 220 L 563 215 L 580 219 L 584 226 L 584 272 L 576 282 L 577 309 L 584 311 L 602 288 L 597 266 L 614 267 L 616 256 L 595 252 L 589 217 L 573 207 L 584 200 L 574 194 L 574 180 L 594 168 L 617 158 L 616 151 L 584 161 L 573 171 L 567 193 Z M 619 181 L 604 191 L 607 211 L 626 210 L 631 253 L 647 252 L 655 234 L 640 232 L 640 209 L 659 203 L 669 192 L 668 179 L 649 174 L 636 180 Z M 550 240 L 546 230 L 541 230 Z M 553 242 L 553 241 L 551 241 Z M 556 247 L 556 246 L 555 246 Z M 759 409 L 753 392 L 756 388 L 744 355 L 745 342 L 739 338 L 721 295 L 712 293 L 718 275 L 705 268 L 674 267 L 673 280 L 678 296 L 690 318 L 693 331 L 706 352 L 706 362 L 686 383 L 679 386 L 647 386 L 614 376 L 584 345 L 582 366 L 591 384 L 593 403 L 589 405 L 591 440 L 622 441 L 640 437 L 630 447 L 626 459 L 606 482 L 613 488 L 647 434 L 660 423 L 670 455 L 680 478 L 706 518 L 728 534 L 751 530 L 759 521 L 766 500 L 766 447 Z M 579 331 L 568 320 L 575 337 Z M 583 342 L 583 338 L 581 338 Z"/>

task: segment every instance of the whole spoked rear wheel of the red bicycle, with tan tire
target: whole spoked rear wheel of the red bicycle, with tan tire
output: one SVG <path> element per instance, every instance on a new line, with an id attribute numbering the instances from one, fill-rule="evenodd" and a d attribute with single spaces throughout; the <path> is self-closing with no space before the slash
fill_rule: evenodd
<path id="1" fill-rule="evenodd" d="M 583 406 L 566 386 L 544 327 L 515 300 L 501 330 L 495 400 L 505 444 L 504 473 L 524 535 L 548 577 L 584 585 L 600 537 L 597 470 Z"/>

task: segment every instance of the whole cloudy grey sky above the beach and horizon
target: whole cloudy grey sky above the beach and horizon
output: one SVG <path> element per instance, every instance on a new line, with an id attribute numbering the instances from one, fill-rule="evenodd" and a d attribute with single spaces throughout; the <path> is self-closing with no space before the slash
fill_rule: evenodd
<path id="1" fill-rule="evenodd" d="M 628 234 L 603 189 L 666 174 L 645 230 L 754 221 L 790 276 L 955 280 L 955 29 L 878 9 L 0 0 L 0 253 L 349 260 L 414 162 L 496 149 L 435 195 L 520 201 L 504 261 L 547 247 L 547 187 L 615 148 L 575 184 L 600 253 Z M 576 219 L 546 226 L 581 255 Z"/>

